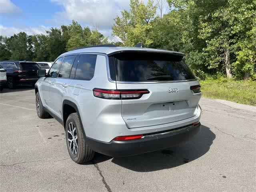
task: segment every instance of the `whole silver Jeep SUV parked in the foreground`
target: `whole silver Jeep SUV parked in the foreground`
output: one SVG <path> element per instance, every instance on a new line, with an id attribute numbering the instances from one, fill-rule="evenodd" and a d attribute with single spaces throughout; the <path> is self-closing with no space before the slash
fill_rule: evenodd
<path id="1" fill-rule="evenodd" d="M 200 85 L 184 54 L 111 45 L 60 55 L 38 70 L 36 111 L 66 130 L 76 163 L 162 150 L 200 131 Z"/>

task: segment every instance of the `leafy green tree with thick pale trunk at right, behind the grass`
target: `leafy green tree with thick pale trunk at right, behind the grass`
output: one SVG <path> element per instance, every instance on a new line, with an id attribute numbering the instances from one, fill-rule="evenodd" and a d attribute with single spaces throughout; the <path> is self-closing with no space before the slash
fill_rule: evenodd
<path id="1" fill-rule="evenodd" d="M 199 37 L 206 42 L 203 52 L 209 68 L 224 68 L 226 76 L 232 78 L 231 54 L 251 30 L 256 4 L 253 0 L 214 0 L 213 4 L 206 15 L 199 17 Z"/>

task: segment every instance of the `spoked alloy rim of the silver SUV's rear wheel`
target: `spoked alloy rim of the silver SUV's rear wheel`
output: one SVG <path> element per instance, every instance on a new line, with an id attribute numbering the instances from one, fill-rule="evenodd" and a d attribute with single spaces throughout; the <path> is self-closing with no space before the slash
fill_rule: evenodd
<path id="1" fill-rule="evenodd" d="M 78 150 L 76 127 L 72 122 L 68 124 L 68 145 L 72 154 L 76 155 Z"/>

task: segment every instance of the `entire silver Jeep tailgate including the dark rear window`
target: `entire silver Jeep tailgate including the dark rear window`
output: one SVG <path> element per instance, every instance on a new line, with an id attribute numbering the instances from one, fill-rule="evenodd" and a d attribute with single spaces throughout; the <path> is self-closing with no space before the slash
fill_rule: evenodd
<path id="1" fill-rule="evenodd" d="M 196 115 L 201 92 L 200 88 L 194 92 L 191 86 L 199 86 L 199 82 L 182 54 L 122 52 L 110 56 L 109 65 L 117 90 L 149 91 L 140 98 L 121 97 L 122 118 L 128 128 L 166 124 Z"/>

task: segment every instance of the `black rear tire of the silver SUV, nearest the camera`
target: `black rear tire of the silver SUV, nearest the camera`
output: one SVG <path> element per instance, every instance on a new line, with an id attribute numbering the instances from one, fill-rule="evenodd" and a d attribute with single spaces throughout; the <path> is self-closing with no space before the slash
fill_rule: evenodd
<path id="1" fill-rule="evenodd" d="M 74 138 L 76 138 L 77 145 Z M 74 162 L 81 164 L 93 159 L 95 152 L 85 142 L 85 135 L 77 113 L 70 114 L 66 121 L 66 144 L 68 153 Z"/>

